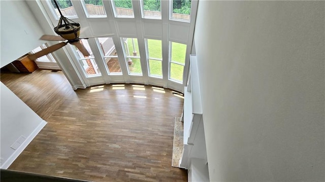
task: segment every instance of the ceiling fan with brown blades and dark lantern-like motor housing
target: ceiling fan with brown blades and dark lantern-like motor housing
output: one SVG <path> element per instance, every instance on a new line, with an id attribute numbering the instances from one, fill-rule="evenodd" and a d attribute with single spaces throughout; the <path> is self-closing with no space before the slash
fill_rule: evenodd
<path id="1" fill-rule="evenodd" d="M 35 59 L 42 57 L 46 54 L 54 52 L 63 46 L 66 46 L 68 43 L 76 46 L 78 48 L 78 50 L 85 57 L 89 56 L 90 55 L 89 52 L 87 51 L 87 49 L 84 47 L 84 45 L 82 44 L 82 42 L 80 40 L 94 38 L 94 37 L 79 38 L 80 24 L 64 17 L 55 0 L 54 0 L 54 3 L 55 3 L 57 10 L 59 11 L 59 13 L 61 15 L 57 26 L 54 28 L 54 31 L 59 36 L 57 36 L 57 35 L 43 35 L 40 39 L 45 40 L 45 41 L 66 41 L 66 42 L 61 42 L 61 43 L 55 44 L 53 46 L 49 46 L 35 54 L 30 54 L 28 56 L 28 58 L 31 60 L 35 60 Z M 106 36 L 109 36 L 109 35 L 113 35 L 113 34 L 107 34 Z M 101 37 L 101 36 L 99 36 L 99 37 Z"/>

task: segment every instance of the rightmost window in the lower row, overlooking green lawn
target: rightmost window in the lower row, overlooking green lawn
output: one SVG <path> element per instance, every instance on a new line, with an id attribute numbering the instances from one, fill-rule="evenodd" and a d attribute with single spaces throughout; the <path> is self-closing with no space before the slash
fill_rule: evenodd
<path id="1" fill-rule="evenodd" d="M 169 42 L 169 47 L 169 79 L 176 82 L 183 82 L 186 44 Z"/>

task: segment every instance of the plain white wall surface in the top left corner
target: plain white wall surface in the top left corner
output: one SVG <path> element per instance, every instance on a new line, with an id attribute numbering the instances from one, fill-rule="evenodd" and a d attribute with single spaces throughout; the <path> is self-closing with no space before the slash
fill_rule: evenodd
<path id="1" fill-rule="evenodd" d="M 25 1 L 1 1 L 1 63 L 7 65 L 44 44 L 43 30 Z"/>

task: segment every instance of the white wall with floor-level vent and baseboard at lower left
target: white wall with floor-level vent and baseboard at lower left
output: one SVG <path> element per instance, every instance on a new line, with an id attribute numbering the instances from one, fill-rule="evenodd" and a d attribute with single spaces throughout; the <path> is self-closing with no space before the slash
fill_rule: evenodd
<path id="1" fill-rule="evenodd" d="M 1 89 L 1 168 L 8 168 L 9 165 L 24 150 L 27 144 L 45 126 L 42 120 L 22 100 L 20 100 L 3 83 Z M 11 146 L 21 137 L 19 147 L 14 150 Z"/>

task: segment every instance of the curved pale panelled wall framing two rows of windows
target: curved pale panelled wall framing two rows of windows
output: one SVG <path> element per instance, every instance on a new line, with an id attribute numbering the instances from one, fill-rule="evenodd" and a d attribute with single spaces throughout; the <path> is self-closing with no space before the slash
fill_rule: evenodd
<path id="1" fill-rule="evenodd" d="M 68 80 L 72 83 L 74 89 L 85 88 L 91 85 L 109 84 L 109 83 L 139 83 L 151 84 L 165 88 L 171 88 L 183 91 L 184 83 L 187 81 L 189 54 L 191 53 L 194 23 L 196 20 L 196 11 L 198 1 L 192 1 L 191 5 L 191 21 L 175 21 L 169 17 L 170 2 L 161 1 L 161 19 L 145 19 L 142 18 L 140 12 L 140 1 L 132 1 L 134 18 L 116 18 L 113 14 L 113 7 L 109 1 L 103 1 L 107 17 L 104 18 L 87 18 L 80 1 L 72 1 L 78 18 L 72 19 L 79 22 L 85 30 L 81 37 L 101 36 L 105 34 L 113 34 L 112 37 L 119 62 L 121 65 L 122 75 L 108 75 L 105 63 L 100 54 L 99 46 L 94 39 L 89 39 L 88 43 L 93 52 L 96 63 L 102 73 L 99 77 L 86 77 L 81 71 L 81 66 L 76 59 L 70 46 L 66 46 L 54 52 L 58 64 L 66 74 Z M 28 1 L 30 9 L 38 16 L 37 18 L 41 26 L 47 29 L 45 33 L 55 34 L 53 25 L 56 26 L 57 19 L 54 18 L 48 4 L 45 1 Z M 42 12 L 42 14 L 40 13 Z M 45 18 L 44 18 L 45 17 Z M 50 28 L 49 28 L 50 27 Z M 127 64 L 124 61 L 122 52 L 122 44 L 120 38 L 137 38 L 139 43 L 139 51 L 141 55 L 141 67 L 143 76 L 133 76 L 127 73 Z M 157 39 L 162 41 L 163 53 L 163 78 L 155 78 L 148 76 L 148 63 L 146 59 L 144 39 Z M 177 42 L 187 45 L 186 60 L 184 66 L 183 82 L 174 82 L 169 79 L 169 42 Z M 51 44 L 51 43 L 50 43 Z"/>

